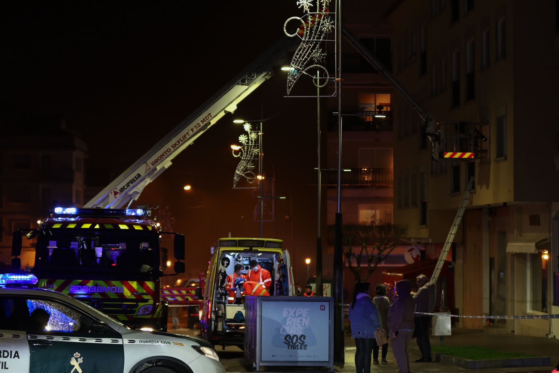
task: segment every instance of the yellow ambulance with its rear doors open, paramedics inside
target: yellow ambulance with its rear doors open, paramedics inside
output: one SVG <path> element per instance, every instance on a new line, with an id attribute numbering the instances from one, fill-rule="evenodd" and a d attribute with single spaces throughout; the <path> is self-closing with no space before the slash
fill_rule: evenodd
<path id="1" fill-rule="evenodd" d="M 229 293 L 225 289 L 227 276 L 233 275 L 237 264 L 243 266 L 241 274 L 246 275 L 254 259 L 270 272 L 270 295 L 295 295 L 289 253 L 283 249 L 282 240 L 271 238 L 221 238 L 210 253 L 200 316 L 201 337 L 214 345 L 243 348 L 244 305 L 229 303 Z M 201 298 L 201 291 L 198 298 Z"/>

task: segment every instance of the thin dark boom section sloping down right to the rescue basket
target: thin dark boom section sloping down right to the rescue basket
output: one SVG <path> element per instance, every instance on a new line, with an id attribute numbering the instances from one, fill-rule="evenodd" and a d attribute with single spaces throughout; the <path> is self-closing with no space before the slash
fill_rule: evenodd
<path id="1" fill-rule="evenodd" d="M 382 63 L 375 57 L 373 54 L 363 45 L 359 40 L 357 40 L 348 30 L 345 28 L 342 29 L 342 33 L 345 37 L 345 40 L 348 41 L 350 45 L 355 48 L 359 54 L 363 56 L 364 59 L 367 60 L 379 73 L 386 78 L 387 81 L 404 97 L 406 101 L 410 103 L 410 105 L 414 108 L 414 110 L 418 113 L 419 117 L 421 118 L 421 122 L 424 125 L 425 132 L 427 133 L 427 137 L 431 143 L 431 147 L 433 150 L 432 156 L 433 159 L 437 160 L 439 158 L 439 151 L 440 151 L 440 135 L 439 131 L 436 128 L 437 120 L 433 115 L 430 115 L 427 110 L 415 99 L 413 95 L 408 91 L 408 89 L 402 84 L 392 73 L 387 70 Z"/>

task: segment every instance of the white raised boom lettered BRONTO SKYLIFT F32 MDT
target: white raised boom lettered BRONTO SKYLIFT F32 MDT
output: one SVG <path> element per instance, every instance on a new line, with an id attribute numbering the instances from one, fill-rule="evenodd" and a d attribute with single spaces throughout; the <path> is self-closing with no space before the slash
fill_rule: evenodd
<path id="1" fill-rule="evenodd" d="M 299 44 L 296 37 L 283 36 L 271 48 L 233 78 L 219 92 L 154 145 L 131 167 L 122 172 L 84 207 L 119 209 L 138 200 L 145 186 L 169 168 L 174 157 L 214 125 L 226 113 L 234 112 L 239 102 L 272 76 L 274 66 Z"/>

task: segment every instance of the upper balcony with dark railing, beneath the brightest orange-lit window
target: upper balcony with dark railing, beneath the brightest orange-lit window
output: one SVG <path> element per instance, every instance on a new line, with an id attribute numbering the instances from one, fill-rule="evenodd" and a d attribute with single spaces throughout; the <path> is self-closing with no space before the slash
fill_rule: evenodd
<path id="1" fill-rule="evenodd" d="M 328 130 L 338 130 L 338 115 L 333 112 L 328 116 Z M 344 131 L 392 131 L 392 111 L 356 111 L 344 114 Z"/>

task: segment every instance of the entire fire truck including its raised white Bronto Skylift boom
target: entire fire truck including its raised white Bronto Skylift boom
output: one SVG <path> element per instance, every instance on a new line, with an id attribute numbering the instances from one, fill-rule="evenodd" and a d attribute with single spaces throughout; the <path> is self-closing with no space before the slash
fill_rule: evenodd
<path id="1" fill-rule="evenodd" d="M 283 36 L 164 136 L 82 208 L 56 207 L 31 232 L 15 232 L 12 267 L 21 268 L 22 236 L 36 238 L 35 267 L 39 285 L 83 300 L 132 327 L 167 328 L 168 303 L 200 303 L 191 295 L 162 294 L 160 278 L 167 254 L 163 234 L 174 235 L 174 270 L 184 272 L 184 236 L 159 232 L 150 211 L 130 207 L 146 185 L 210 126 L 272 76 L 299 43 Z M 182 292 L 181 290 L 180 292 Z M 171 299 L 172 298 L 172 299 Z"/>

